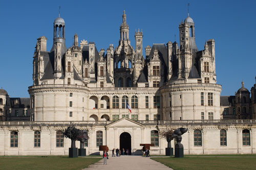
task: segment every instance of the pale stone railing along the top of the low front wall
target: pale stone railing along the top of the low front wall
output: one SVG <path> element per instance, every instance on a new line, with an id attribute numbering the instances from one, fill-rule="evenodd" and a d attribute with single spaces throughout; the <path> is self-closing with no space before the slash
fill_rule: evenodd
<path id="1" fill-rule="evenodd" d="M 114 121 L 6 121 L 0 126 L 106 126 Z M 228 119 L 228 120 L 137 120 L 142 125 L 256 125 L 256 119 Z"/>

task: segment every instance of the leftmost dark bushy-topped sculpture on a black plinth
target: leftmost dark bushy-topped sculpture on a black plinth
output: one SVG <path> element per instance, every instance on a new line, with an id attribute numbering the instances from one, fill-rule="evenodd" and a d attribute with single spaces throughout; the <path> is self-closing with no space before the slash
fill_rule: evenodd
<path id="1" fill-rule="evenodd" d="M 63 135 L 71 139 L 71 148 L 69 148 L 69 157 L 70 158 L 78 157 L 76 140 L 77 140 L 77 137 L 81 135 L 81 131 L 79 129 L 76 129 L 74 126 L 72 126 L 72 127 L 68 127 L 63 133 Z"/>

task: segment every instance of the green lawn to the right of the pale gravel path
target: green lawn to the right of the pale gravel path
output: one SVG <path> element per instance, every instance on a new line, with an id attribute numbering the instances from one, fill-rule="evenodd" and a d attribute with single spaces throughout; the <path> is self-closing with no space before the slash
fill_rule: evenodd
<path id="1" fill-rule="evenodd" d="M 256 158 L 248 155 L 194 155 L 184 158 L 162 157 L 151 158 L 175 170 L 181 169 L 256 169 Z M 208 157 L 202 157 L 208 156 Z M 215 156 L 215 157 L 210 157 Z M 217 157 L 221 156 L 221 157 Z M 231 156 L 223 157 L 223 156 Z M 241 157 L 238 157 L 241 156 Z M 256 156 L 256 155 L 250 155 Z"/>

